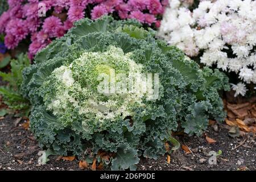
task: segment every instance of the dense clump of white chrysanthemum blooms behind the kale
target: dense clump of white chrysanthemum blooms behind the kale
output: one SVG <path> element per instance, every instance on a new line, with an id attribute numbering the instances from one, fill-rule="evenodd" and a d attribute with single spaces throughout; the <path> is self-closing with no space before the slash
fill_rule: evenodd
<path id="1" fill-rule="evenodd" d="M 194 10 L 180 2 L 170 1 L 158 36 L 187 56 L 202 52 L 205 65 L 216 64 L 246 83 L 256 83 L 256 1 L 200 1 Z"/>

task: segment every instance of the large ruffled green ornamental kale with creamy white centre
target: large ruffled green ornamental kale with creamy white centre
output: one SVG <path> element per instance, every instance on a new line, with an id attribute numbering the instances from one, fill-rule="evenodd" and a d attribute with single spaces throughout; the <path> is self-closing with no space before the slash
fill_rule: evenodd
<path id="1" fill-rule="evenodd" d="M 166 152 L 168 131 L 179 126 L 200 135 L 208 118 L 224 119 L 217 91 L 228 89 L 225 75 L 201 70 L 154 35 L 134 20 L 105 16 L 79 20 L 42 49 L 36 64 L 23 71 L 23 94 L 32 103 L 31 130 L 41 146 L 79 158 L 113 152 L 112 169 L 135 169 L 138 156 L 156 159 Z M 115 88 L 130 80 L 138 84 L 143 73 L 158 74 L 158 97 L 99 92 L 102 78 L 110 80 L 111 88 L 113 70 L 124 76 L 117 78 Z"/>

